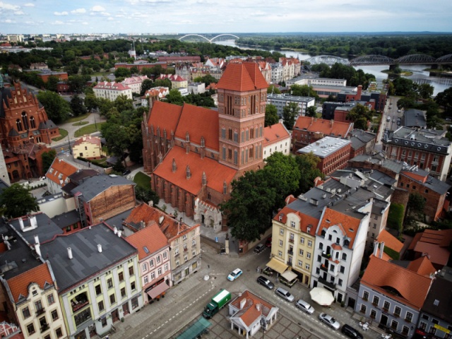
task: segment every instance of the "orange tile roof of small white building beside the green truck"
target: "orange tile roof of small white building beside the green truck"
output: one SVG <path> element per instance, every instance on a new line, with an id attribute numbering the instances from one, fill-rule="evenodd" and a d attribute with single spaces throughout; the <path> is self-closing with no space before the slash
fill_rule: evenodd
<path id="1" fill-rule="evenodd" d="M 243 309 L 240 309 L 240 302 L 242 302 L 243 299 L 246 299 L 246 302 Z M 259 304 L 259 309 L 256 307 L 257 304 Z M 264 299 L 259 298 L 248 290 L 243 292 L 237 299 L 234 299 L 232 306 L 240 310 L 238 315 L 246 327 L 249 327 L 256 319 L 261 318 L 261 316 L 268 316 L 268 313 L 274 307 L 269 302 L 266 302 Z"/>

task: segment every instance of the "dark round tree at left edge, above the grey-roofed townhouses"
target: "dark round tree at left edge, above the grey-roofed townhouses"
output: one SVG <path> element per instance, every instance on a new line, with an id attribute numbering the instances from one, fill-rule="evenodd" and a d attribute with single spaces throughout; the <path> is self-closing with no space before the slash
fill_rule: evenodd
<path id="1" fill-rule="evenodd" d="M 40 210 L 36 199 L 20 184 L 13 184 L 0 195 L 0 206 L 7 218 L 18 218 Z"/>

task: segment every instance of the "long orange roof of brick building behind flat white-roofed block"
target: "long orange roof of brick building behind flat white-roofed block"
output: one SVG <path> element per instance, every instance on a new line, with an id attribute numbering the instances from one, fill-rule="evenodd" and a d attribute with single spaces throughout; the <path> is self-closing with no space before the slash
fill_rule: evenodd
<path id="1" fill-rule="evenodd" d="M 294 129 L 300 129 L 310 132 L 319 132 L 327 136 L 341 136 L 345 138 L 353 129 L 353 123 L 317 119 L 313 117 L 298 117 Z"/>

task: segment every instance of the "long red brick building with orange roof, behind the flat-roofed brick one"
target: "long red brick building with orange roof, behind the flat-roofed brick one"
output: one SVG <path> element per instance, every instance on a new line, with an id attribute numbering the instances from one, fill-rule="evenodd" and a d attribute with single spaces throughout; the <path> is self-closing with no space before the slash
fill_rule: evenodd
<path id="1" fill-rule="evenodd" d="M 298 117 L 292 130 L 293 152 L 310 145 L 325 136 L 347 138 L 353 129 L 352 122 L 317 119 L 314 117 Z"/>

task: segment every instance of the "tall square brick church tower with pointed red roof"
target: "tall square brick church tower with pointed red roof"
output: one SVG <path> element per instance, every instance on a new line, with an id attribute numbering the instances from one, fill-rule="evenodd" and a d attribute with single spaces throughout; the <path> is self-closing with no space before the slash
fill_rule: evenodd
<path id="1" fill-rule="evenodd" d="M 219 162 L 241 174 L 262 168 L 268 84 L 258 65 L 229 64 L 217 88 Z"/>

